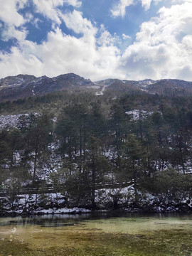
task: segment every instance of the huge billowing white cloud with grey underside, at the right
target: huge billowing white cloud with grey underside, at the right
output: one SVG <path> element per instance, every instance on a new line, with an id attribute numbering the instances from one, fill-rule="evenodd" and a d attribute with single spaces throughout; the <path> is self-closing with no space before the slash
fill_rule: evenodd
<path id="1" fill-rule="evenodd" d="M 129 78 L 182 78 L 192 75 L 192 5 L 185 2 L 161 8 L 159 17 L 142 23 L 137 41 L 122 55 Z"/>

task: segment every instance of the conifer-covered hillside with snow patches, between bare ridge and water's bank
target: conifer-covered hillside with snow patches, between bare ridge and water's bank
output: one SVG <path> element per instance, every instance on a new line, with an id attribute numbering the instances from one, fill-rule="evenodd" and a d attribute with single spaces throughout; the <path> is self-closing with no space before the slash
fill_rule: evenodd
<path id="1" fill-rule="evenodd" d="M 34 188 L 61 193 L 68 207 L 190 209 L 190 95 L 115 87 L 98 95 L 85 88 L 0 107 L 1 196 L 6 193 L 13 208 L 18 195 Z M 104 205 L 102 193 L 109 188 Z M 122 201 L 124 188 L 132 193 L 128 189 Z"/>

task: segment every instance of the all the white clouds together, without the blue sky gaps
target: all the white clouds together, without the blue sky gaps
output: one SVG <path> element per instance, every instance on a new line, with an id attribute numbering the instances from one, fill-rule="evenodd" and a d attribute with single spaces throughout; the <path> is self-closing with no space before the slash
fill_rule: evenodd
<path id="1" fill-rule="evenodd" d="M 25 4 L 25 1 L 21 3 Z M 52 20 L 56 28 L 41 44 L 26 40 L 27 31 L 23 26 L 26 21 L 34 21 L 30 14 L 17 21 L 19 30 L 11 18 L 6 21 L 9 26 L 6 33 L 4 31 L 4 38 L 11 35 L 18 38 L 18 46 L 12 47 L 9 53 L 0 52 L 1 77 L 18 73 L 52 77 L 73 72 L 92 80 L 110 77 L 192 80 L 192 0 L 161 8 L 158 16 L 142 23 L 136 41 L 124 53 L 117 48 L 117 35 L 110 34 L 104 25 L 97 27 L 96 23 L 83 18 L 80 11 L 62 14 L 59 6 L 63 1 L 48 0 L 48 3 L 44 15 L 49 17 L 49 8 L 54 6 L 51 11 L 55 14 Z M 41 8 L 38 9 L 40 12 Z M 11 14 L 17 16 L 17 11 L 18 6 L 13 4 Z M 78 38 L 61 31 L 62 21 L 78 33 Z M 123 33 L 122 38 L 127 40 L 129 36 Z"/>

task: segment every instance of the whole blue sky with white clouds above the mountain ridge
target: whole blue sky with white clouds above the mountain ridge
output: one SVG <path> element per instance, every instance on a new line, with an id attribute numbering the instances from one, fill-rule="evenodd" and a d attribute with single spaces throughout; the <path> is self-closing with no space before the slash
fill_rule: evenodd
<path id="1" fill-rule="evenodd" d="M 0 0 L 0 78 L 192 81 L 192 0 Z"/>

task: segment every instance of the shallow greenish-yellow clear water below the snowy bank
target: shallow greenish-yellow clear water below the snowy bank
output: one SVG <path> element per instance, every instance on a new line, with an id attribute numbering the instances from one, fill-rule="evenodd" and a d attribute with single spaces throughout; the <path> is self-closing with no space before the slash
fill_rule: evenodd
<path id="1" fill-rule="evenodd" d="M 192 215 L 0 218 L 0 256 L 192 255 Z"/>

